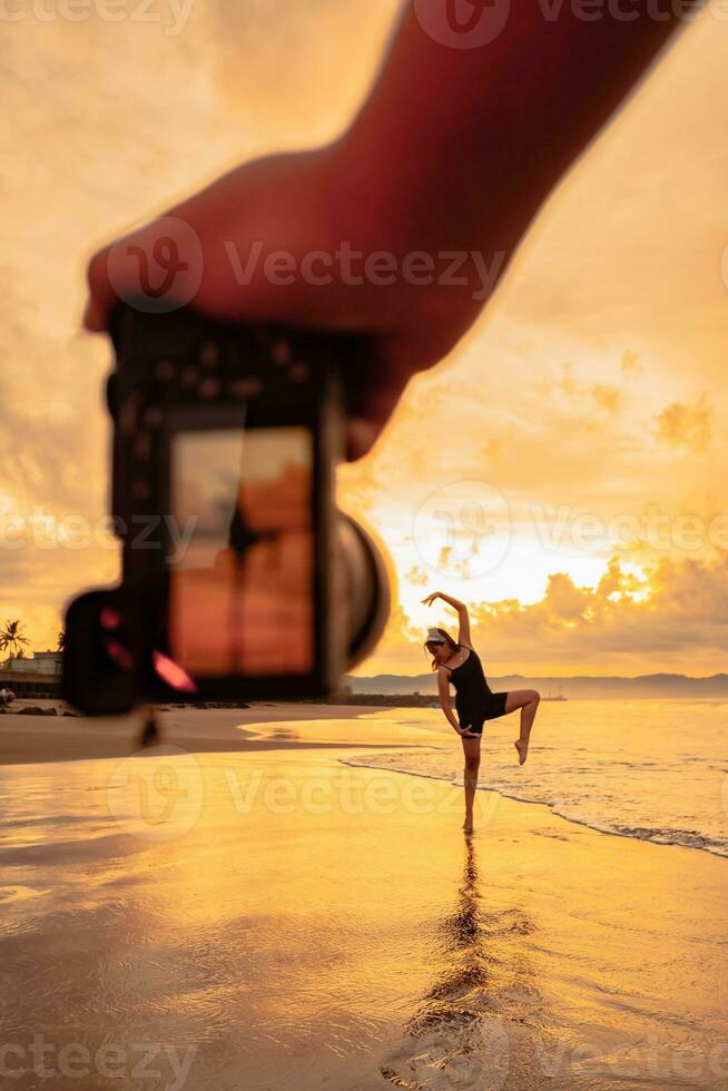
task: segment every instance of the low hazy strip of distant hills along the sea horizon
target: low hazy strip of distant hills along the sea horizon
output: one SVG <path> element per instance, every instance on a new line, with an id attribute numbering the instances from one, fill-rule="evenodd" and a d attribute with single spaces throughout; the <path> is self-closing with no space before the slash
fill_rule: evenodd
<path id="1" fill-rule="evenodd" d="M 354 678 L 347 675 L 345 686 L 354 694 L 432 694 L 437 697 L 435 676 L 426 675 L 373 675 Z M 538 689 L 542 697 L 609 698 L 671 697 L 693 700 L 728 700 L 728 675 L 691 678 L 688 675 L 639 675 L 637 678 L 619 676 L 596 678 L 575 675 L 571 678 L 538 678 L 528 675 L 488 676 L 493 690 Z"/>

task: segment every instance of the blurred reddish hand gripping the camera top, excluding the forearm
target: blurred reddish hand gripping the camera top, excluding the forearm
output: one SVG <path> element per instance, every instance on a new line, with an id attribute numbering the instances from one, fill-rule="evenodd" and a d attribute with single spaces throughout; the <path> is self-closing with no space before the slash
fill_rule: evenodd
<path id="1" fill-rule="evenodd" d="M 363 334 L 368 366 L 345 435 L 346 459 L 362 458 L 412 375 L 450 351 L 482 303 L 471 298 L 468 322 L 459 324 L 460 289 L 384 277 L 381 268 L 360 275 L 377 250 L 401 269 L 407 254 L 427 245 L 424 229 L 412 233 L 406 209 L 390 209 L 386 195 L 365 203 L 355 196 L 361 170 L 337 144 L 237 167 L 94 255 L 85 327 L 106 331 L 116 301 L 142 292 L 170 309 L 189 304 L 218 318 Z M 355 267 L 344 265 L 344 248 L 360 255 Z"/>

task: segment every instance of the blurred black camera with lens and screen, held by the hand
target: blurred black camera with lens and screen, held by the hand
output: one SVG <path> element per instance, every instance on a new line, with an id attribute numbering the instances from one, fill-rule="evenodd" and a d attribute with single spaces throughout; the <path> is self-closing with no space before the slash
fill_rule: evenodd
<path id="1" fill-rule="evenodd" d="M 390 610 L 380 547 L 335 505 L 367 340 L 146 298 L 110 334 L 121 581 L 67 608 L 66 700 L 102 716 L 335 692 Z"/>

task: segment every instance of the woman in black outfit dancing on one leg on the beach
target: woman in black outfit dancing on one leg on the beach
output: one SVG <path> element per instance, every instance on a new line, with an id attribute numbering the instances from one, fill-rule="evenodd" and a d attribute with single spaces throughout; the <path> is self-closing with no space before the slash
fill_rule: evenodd
<path id="1" fill-rule="evenodd" d="M 488 685 L 480 657 L 472 646 L 470 637 L 470 617 L 468 607 L 458 599 L 452 599 L 442 591 L 433 591 L 422 601 L 432 606 L 435 599 L 442 599 L 458 610 L 460 630 L 458 642 L 445 629 L 431 628 L 425 640 L 425 648 L 432 655 L 432 669 L 437 671 L 440 704 L 445 718 L 463 740 L 465 754 L 465 822 L 463 829 L 472 833 L 473 800 L 478 787 L 478 770 L 480 768 L 480 744 L 485 720 L 496 719 L 521 709 L 521 733 L 513 744 L 519 753 L 519 765 L 523 765 L 529 753 L 531 727 L 535 717 L 541 695 L 537 689 L 512 689 L 496 692 Z M 455 687 L 455 710 L 453 716 L 450 700 L 450 684 Z"/>

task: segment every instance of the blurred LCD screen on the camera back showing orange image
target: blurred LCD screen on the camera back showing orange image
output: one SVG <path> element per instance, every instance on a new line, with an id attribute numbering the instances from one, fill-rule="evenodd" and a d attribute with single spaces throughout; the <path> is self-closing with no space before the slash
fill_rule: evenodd
<path id="1" fill-rule="evenodd" d="M 193 677 L 307 674 L 315 650 L 311 432 L 179 431 L 170 455 L 174 660 Z"/>

